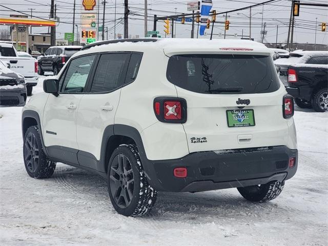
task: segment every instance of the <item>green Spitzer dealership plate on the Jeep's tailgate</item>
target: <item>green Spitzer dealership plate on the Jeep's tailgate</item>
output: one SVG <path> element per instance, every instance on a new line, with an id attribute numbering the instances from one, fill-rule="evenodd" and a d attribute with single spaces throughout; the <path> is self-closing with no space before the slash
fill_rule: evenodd
<path id="1" fill-rule="evenodd" d="M 253 109 L 227 110 L 228 127 L 253 127 L 255 126 Z"/>

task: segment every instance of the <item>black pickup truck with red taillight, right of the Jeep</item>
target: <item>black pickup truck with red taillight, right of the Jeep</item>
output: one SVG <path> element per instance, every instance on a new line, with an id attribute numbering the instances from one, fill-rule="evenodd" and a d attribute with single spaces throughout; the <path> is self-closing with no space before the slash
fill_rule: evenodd
<path id="1" fill-rule="evenodd" d="M 282 59 L 282 58 L 280 58 Z M 328 105 L 328 52 L 297 51 L 289 58 L 276 60 L 276 68 L 289 94 L 303 109 L 313 108 L 317 112 L 327 111 Z"/>

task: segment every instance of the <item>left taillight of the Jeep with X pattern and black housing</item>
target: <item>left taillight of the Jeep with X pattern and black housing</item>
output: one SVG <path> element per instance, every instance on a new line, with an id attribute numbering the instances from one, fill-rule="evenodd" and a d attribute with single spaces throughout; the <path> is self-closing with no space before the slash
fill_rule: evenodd
<path id="1" fill-rule="evenodd" d="M 187 101 L 179 97 L 156 97 L 154 113 L 157 119 L 166 123 L 185 123 L 187 121 Z"/>

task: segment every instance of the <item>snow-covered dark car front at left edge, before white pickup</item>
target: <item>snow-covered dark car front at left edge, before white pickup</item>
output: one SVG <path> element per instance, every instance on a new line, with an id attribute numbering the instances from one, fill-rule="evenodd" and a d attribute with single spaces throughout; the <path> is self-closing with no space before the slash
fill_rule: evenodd
<path id="1" fill-rule="evenodd" d="M 25 78 L 0 60 L 0 107 L 24 106 L 26 98 Z"/>

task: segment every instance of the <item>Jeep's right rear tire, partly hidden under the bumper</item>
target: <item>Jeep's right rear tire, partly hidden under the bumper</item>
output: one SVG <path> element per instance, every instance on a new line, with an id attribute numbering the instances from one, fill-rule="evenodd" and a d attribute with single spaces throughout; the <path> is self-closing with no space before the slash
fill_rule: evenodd
<path id="1" fill-rule="evenodd" d="M 272 181 L 265 183 L 264 185 L 240 187 L 237 188 L 237 190 L 246 200 L 266 202 L 279 196 L 283 189 L 284 183 L 284 181 Z"/>

